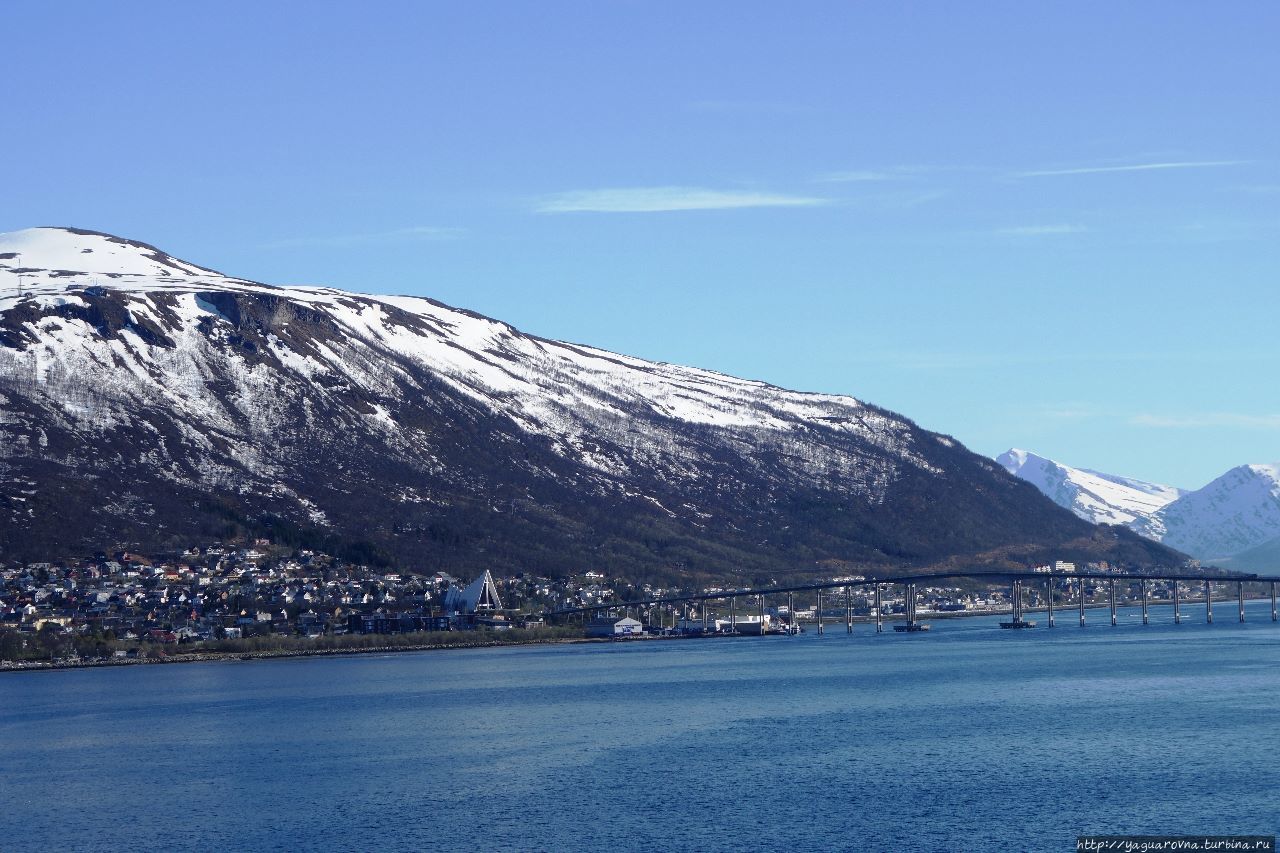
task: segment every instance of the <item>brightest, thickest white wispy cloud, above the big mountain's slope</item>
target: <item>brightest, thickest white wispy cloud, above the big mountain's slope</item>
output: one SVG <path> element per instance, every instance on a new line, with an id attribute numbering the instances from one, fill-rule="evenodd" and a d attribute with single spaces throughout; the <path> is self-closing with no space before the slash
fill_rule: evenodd
<path id="1" fill-rule="evenodd" d="M 666 213 L 672 210 L 730 210 L 736 207 L 815 207 L 827 199 L 704 187 L 620 187 L 575 190 L 539 201 L 536 213 Z"/>

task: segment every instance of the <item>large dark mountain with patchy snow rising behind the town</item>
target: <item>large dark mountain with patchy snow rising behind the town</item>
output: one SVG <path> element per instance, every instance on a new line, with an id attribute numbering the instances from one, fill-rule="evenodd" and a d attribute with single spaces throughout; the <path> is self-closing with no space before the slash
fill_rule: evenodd
<path id="1" fill-rule="evenodd" d="M 5 557 L 252 533 L 550 574 L 1176 560 L 852 397 L 70 228 L 0 234 L 0 517 Z"/>

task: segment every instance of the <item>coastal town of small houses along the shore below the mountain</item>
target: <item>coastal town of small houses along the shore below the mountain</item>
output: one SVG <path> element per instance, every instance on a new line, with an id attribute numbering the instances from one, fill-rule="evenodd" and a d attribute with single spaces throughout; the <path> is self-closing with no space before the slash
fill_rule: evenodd
<path id="1" fill-rule="evenodd" d="M 1083 569 L 1097 573 L 1110 566 Z M 1059 562 L 1034 571 L 1074 570 L 1073 564 Z M 238 547 L 191 547 L 169 557 L 99 553 L 81 561 L 0 567 L 0 667 L 155 661 L 201 649 L 282 648 L 285 639 L 289 649 L 308 648 L 307 640 L 340 648 L 340 643 L 334 644 L 337 638 L 357 635 L 517 630 L 522 638 L 536 639 L 539 631 L 550 630 L 540 615 L 556 610 L 600 616 L 593 624 L 579 620 L 576 628 L 561 629 L 557 637 L 760 634 L 803 630 L 800 625 L 819 619 L 820 602 L 813 597 L 801 598 L 803 603 L 788 601 L 787 606 L 772 602 L 765 608 L 756 596 L 755 602 L 748 602 L 754 606 L 741 615 L 731 615 L 727 602 L 724 612 L 713 613 L 687 605 L 611 608 L 641 598 L 718 592 L 714 587 L 637 587 L 600 570 L 561 579 L 522 573 L 494 578 L 484 571 L 463 579 L 447 573 L 392 571 L 315 551 L 273 548 L 265 539 Z M 938 615 L 1001 612 L 1010 606 L 1007 590 L 995 587 L 927 587 L 918 594 L 920 611 Z M 867 617 L 873 607 L 870 593 L 856 588 L 847 601 L 828 598 L 822 616 Z M 886 615 L 901 613 L 905 602 L 888 596 L 881 607 Z"/>

